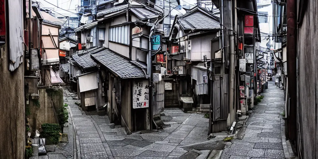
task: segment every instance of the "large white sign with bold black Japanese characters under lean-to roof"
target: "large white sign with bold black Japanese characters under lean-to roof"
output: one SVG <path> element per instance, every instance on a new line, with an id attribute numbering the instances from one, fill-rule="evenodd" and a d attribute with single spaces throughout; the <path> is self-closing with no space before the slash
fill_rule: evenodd
<path id="1" fill-rule="evenodd" d="M 149 81 L 134 81 L 133 108 L 149 107 Z"/>

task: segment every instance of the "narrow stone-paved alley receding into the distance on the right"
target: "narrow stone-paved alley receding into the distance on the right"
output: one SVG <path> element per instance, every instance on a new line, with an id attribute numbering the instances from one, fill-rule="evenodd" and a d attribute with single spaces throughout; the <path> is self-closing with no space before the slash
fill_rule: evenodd
<path id="1" fill-rule="evenodd" d="M 268 82 L 268 89 L 258 106 L 246 121 L 242 140 L 235 139 L 229 148 L 225 148 L 222 159 L 284 159 L 284 125 L 280 115 L 285 110 L 284 92 L 276 88 L 273 81 Z"/>

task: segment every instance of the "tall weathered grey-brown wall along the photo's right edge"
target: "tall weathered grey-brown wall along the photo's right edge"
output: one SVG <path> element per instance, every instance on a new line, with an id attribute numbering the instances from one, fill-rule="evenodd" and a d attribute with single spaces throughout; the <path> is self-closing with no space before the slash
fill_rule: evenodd
<path id="1" fill-rule="evenodd" d="M 316 122 L 318 115 L 318 5 L 315 0 L 308 0 L 306 3 L 308 3 L 307 9 L 304 12 L 303 23 L 299 26 L 298 36 L 298 114 L 301 156 L 306 159 L 315 159 L 318 157 Z"/>

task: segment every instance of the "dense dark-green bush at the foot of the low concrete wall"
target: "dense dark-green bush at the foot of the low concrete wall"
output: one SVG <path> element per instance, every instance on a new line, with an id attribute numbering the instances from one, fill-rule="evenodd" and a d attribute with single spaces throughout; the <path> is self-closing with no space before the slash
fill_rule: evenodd
<path id="1" fill-rule="evenodd" d="M 56 144 L 59 142 L 59 133 L 61 132 L 61 126 L 59 124 L 42 124 L 42 131 L 40 137 L 46 138 L 48 144 Z"/>

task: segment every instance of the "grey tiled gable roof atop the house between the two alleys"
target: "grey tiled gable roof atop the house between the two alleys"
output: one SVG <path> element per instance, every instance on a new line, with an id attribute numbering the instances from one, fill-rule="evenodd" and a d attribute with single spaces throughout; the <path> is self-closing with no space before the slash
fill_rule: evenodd
<path id="1" fill-rule="evenodd" d="M 191 13 L 191 12 L 189 12 Z M 194 12 L 186 16 L 178 18 L 179 24 L 183 26 L 184 29 L 219 29 L 220 22 L 214 18 L 200 12 Z"/>

